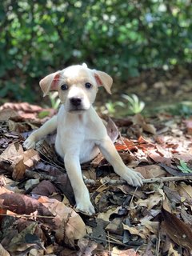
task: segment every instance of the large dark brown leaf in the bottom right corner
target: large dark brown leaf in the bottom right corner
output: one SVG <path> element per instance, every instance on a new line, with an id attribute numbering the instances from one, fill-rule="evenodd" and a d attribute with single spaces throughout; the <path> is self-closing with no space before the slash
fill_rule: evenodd
<path id="1" fill-rule="evenodd" d="M 174 214 L 170 214 L 170 212 L 163 207 L 162 216 L 164 218 L 168 236 L 179 246 L 192 250 L 192 231 L 190 230 L 190 227 Z"/>

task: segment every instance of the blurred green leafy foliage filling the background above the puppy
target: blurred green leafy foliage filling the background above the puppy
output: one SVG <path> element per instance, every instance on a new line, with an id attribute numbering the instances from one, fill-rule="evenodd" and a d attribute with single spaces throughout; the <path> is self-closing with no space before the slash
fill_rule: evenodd
<path id="1" fill-rule="evenodd" d="M 190 0 L 3 0 L 0 97 L 33 102 L 40 78 L 74 63 L 120 82 L 140 70 L 187 66 L 191 6 Z"/>

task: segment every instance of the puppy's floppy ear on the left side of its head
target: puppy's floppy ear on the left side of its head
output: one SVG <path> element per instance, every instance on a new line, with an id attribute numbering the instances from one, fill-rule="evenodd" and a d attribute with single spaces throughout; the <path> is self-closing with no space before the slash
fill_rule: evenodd
<path id="1" fill-rule="evenodd" d="M 58 82 L 60 80 L 61 71 L 48 74 L 45 78 L 39 82 L 40 87 L 43 91 L 43 97 L 45 97 L 50 90 L 58 90 Z"/>

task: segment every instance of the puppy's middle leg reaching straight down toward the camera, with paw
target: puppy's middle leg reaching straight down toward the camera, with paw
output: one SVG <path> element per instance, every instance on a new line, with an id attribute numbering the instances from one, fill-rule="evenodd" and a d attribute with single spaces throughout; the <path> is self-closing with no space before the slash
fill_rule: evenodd
<path id="1" fill-rule="evenodd" d="M 66 154 L 64 158 L 66 172 L 74 190 L 76 208 L 86 214 L 94 214 L 94 206 L 90 202 L 90 194 L 82 179 L 82 170 L 78 155 Z"/>

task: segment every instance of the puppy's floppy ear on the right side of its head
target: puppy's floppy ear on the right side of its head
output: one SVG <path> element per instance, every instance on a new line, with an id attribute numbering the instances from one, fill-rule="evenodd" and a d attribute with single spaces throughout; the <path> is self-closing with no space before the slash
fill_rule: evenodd
<path id="1" fill-rule="evenodd" d="M 94 70 L 94 78 L 98 84 L 98 86 L 105 87 L 106 91 L 111 94 L 110 88 L 113 83 L 113 79 L 110 77 L 109 74 L 105 72 Z"/>

